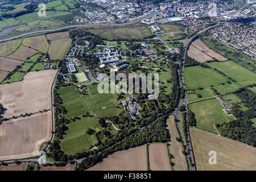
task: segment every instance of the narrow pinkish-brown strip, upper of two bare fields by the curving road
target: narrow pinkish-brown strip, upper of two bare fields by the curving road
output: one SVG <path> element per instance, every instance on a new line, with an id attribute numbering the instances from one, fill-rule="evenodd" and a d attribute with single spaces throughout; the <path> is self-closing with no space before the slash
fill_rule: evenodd
<path id="1" fill-rule="evenodd" d="M 208 56 L 210 56 L 212 58 L 215 57 L 219 61 L 226 61 L 226 60 L 228 60 L 225 57 L 223 57 L 220 54 L 218 54 L 217 52 L 214 52 L 209 47 L 207 47 L 203 42 L 201 42 L 200 39 L 196 39 L 194 42 L 192 42 L 192 45 L 195 46 L 200 51 L 202 51 L 203 53 L 207 54 Z"/>

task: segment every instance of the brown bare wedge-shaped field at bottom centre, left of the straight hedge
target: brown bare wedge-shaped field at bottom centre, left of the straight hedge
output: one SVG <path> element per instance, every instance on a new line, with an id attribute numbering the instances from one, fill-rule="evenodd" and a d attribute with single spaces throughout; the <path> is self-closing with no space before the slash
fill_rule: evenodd
<path id="1" fill-rule="evenodd" d="M 102 162 L 87 169 L 88 171 L 147 171 L 146 146 L 118 151 Z"/>

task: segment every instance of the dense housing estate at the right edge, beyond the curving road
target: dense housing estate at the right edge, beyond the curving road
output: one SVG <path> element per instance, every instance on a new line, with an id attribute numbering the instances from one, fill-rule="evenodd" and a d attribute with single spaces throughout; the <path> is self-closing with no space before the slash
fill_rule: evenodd
<path id="1" fill-rule="evenodd" d="M 241 50 L 247 56 L 256 59 L 256 28 L 244 27 L 242 23 L 227 22 L 226 26 L 209 30 L 210 34 L 222 42 Z"/>

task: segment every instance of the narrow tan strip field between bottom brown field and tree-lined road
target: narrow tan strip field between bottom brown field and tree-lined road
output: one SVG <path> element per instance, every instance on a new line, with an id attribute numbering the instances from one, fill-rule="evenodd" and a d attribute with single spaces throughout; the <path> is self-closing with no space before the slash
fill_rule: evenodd
<path id="1" fill-rule="evenodd" d="M 171 115 L 167 120 L 167 129 L 171 135 L 171 142 L 168 142 L 170 144 L 168 147 L 170 154 L 174 156 L 174 158 L 172 158 L 172 162 L 175 164 L 174 170 L 187 171 L 187 162 L 185 156 L 181 153 L 183 150 L 182 144 L 176 140 L 176 137 L 179 137 L 179 134 L 176 130 L 174 118 L 174 115 Z"/>

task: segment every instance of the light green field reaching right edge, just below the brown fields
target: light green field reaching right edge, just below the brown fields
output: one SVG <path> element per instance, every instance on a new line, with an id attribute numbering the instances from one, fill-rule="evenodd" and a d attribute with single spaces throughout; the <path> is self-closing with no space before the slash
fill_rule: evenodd
<path id="1" fill-rule="evenodd" d="M 241 67 L 233 61 L 225 61 L 223 63 L 212 62 L 207 63 L 210 67 L 216 68 L 219 71 L 225 73 L 225 75 L 233 78 L 242 86 L 256 83 L 256 74 Z"/>

